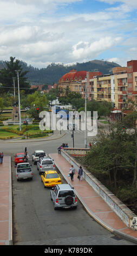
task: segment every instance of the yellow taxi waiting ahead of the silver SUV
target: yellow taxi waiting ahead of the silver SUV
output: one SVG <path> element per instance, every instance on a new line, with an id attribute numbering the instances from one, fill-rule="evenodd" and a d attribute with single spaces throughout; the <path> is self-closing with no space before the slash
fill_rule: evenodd
<path id="1" fill-rule="evenodd" d="M 56 184 L 62 184 L 61 178 L 56 172 L 56 170 L 46 170 L 41 175 L 41 181 L 44 187 L 54 187 Z"/>

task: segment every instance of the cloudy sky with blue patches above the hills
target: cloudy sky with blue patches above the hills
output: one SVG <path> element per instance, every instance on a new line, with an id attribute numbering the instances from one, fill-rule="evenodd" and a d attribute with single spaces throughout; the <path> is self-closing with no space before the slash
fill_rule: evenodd
<path id="1" fill-rule="evenodd" d="M 0 0 L 0 60 L 36 68 L 137 59 L 137 0 Z"/>

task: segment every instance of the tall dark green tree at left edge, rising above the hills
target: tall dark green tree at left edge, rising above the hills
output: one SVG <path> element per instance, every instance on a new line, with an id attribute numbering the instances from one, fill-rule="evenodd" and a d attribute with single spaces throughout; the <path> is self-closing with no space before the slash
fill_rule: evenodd
<path id="1" fill-rule="evenodd" d="M 17 88 L 18 82 L 16 70 L 19 70 L 19 87 L 21 89 L 24 88 L 25 92 L 29 93 L 30 84 L 27 82 L 27 77 L 25 77 L 28 71 L 23 71 L 22 65 L 19 64 L 19 60 L 15 60 L 15 57 L 10 57 L 10 61 L 5 62 L 5 64 L 6 68 L 0 70 L 0 83 L 2 83 L 1 91 L 14 93 L 13 77 L 15 77 L 15 88 Z"/>

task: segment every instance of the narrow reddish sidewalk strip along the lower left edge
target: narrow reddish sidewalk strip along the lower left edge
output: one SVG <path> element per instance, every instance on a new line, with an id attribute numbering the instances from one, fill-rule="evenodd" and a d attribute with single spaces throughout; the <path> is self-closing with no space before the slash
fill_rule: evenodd
<path id="1" fill-rule="evenodd" d="M 12 245 L 11 157 L 0 164 L 0 245 Z"/>

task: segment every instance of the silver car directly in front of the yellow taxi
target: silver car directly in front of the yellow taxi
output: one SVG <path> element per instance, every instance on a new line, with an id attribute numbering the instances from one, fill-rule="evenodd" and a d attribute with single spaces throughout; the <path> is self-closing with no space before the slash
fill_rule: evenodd
<path id="1" fill-rule="evenodd" d="M 53 159 L 50 157 L 41 157 L 39 161 L 37 161 L 37 170 L 39 173 L 45 172 L 45 170 L 54 170 L 55 164 Z"/>

